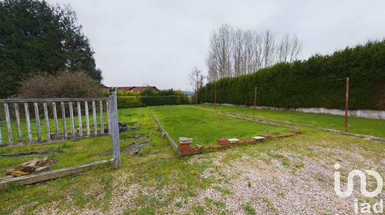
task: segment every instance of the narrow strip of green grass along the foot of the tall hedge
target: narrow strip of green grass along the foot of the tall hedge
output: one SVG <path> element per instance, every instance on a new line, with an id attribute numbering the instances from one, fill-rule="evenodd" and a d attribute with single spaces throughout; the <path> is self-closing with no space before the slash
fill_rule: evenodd
<path id="1" fill-rule="evenodd" d="M 211 110 L 214 109 L 214 105 L 200 105 L 200 107 Z M 254 109 L 249 107 L 222 105 L 216 105 L 216 110 L 249 116 L 253 116 L 254 112 Z M 338 131 L 344 131 L 345 126 L 344 116 L 332 114 L 299 113 L 256 109 L 255 116 L 284 122 L 313 125 L 316 127 L 334 129 Z M 385 120 L 348 117 L 348 132 L 352 134 L 370 135 L 385 138 Z"/>

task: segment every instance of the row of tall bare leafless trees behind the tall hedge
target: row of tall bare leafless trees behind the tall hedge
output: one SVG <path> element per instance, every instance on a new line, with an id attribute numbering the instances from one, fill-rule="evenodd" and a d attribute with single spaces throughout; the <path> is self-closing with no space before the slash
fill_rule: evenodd
<path id="1" fill-rule="evenodd" d="M 259 33 L 223 24 L 210 35 L 207 80 L 251 74 L 278 62 L 294 62 L 301 50 L 302 42 L 296 35 L 279 37 L 271 30 Z"/>

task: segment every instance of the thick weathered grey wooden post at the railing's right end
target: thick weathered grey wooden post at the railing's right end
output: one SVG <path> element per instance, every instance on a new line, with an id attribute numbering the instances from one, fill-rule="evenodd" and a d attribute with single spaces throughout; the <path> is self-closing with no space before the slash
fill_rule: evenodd
<path id="1" fill-rule="evenodd" d="M 116 88 L 109 88 L 109 112 L 111 120 L 111 136 L 112 136 L 112 155 L 113 167 L 120 166 L 120 144 L 119 144 L 119 125 L 118 125 L 118 103 Z"/>

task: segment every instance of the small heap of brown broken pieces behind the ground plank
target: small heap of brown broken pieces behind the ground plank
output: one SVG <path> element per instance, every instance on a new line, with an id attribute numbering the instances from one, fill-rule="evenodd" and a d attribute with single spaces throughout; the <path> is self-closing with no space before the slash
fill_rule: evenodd
<path id="1" fill-rule="evenodd" d="M 0 178 L 0 181 L 10 179 L 13 177 L 27 176 L 30 174 L 44 173 L 45 171 L 51 170 L 51 164 L 56 163 L 57 160 L 48 160 L 45 158 L 35 158 L 31 161 L 22 163 L 15 166 L 14 168 L 7 169 L 5 177 Z"/>

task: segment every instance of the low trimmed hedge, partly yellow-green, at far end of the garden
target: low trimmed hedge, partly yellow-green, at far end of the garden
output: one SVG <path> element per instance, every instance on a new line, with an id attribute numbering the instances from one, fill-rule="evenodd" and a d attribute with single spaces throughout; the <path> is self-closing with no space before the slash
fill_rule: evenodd
<path id="1" fill-rule="evenodd" d="M 186 96 L 117 96 L 118 109 L 185 104 Z"/>

